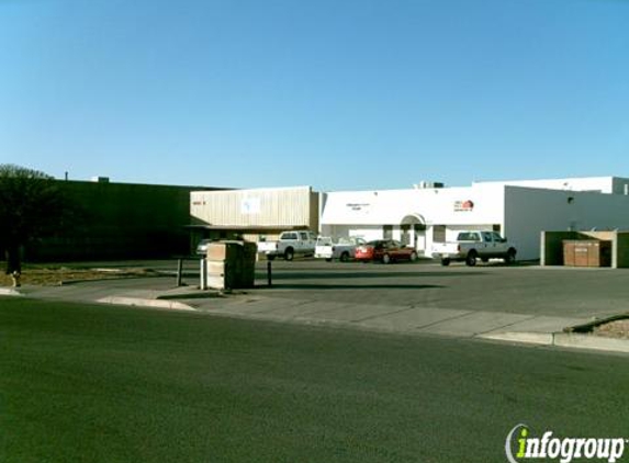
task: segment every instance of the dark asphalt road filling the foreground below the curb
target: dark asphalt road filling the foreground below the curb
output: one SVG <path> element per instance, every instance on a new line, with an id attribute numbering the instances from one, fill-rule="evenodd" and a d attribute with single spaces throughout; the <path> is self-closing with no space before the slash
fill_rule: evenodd
<path id="1" fill-rule="evenodd" d="M 0 372 L 3 463 L 505 462 L 520 422 L 629 438 L 627 358 L 559 349 L 0 297 Z"/>

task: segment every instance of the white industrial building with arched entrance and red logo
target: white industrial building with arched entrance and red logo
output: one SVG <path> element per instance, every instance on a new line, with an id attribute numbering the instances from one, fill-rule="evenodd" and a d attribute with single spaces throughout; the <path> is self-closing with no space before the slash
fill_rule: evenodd
<path id="1" fill-rule="evenodd" d="M 437 187 L 437 188 L 436 188 Z M 393 238 L 428 256 L 461 229 L 493 229 L 539 259 L 542 230 L 629 229 L 629 179 L 617 177 L 475 182 L 441 188 L 325 194 L 321 233 Z"/>

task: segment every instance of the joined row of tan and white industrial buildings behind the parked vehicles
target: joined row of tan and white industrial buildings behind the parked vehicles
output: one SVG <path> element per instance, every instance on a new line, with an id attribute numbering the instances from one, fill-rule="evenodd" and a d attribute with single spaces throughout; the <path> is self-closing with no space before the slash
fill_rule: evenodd
<path id="1" fill-rule="evenodd" d="M 190 197 L 193 242 L 276 239 L 287 229 L 333 237 L 393 238 L 430 255 L 462 229 L 493 229 L 540 258 L 540 233 L 629 230 L 629 179 L 592 177 L 475 182 L 443 188 L 317 193 L 310 187 L 198 191 Z"/>

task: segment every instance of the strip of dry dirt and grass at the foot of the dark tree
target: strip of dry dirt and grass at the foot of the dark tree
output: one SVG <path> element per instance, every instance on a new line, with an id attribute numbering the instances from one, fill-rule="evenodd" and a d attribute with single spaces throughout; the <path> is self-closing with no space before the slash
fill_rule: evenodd
<path id="1" fill-rule="evenodd" d="M 79 269 L 68 267 L 24 267 L 22 284 L 57 286 L 64 282 L 77 280 L 102 280 L 133 276 L 150 276 L 157 272 L 142 268 L 131 269 Z M 4 272 L 0 274 L 0 286 L 11 286 L 11 278 Z"/>

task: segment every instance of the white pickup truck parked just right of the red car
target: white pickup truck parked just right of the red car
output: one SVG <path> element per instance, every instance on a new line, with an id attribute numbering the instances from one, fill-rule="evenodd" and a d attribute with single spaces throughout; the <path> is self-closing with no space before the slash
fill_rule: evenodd
<path id="1" fill-rule="evenodd" d="M 460 232 L 456 241 L 435 242 L 433 246 L 433 257 L 440 259 L 442 266 L 449 266 L 451 261 L 475 266 L 478 259 L 486 262 L 494 258 L 514 263 L 516 255 L 515 246 L 496 232 Z"/>

